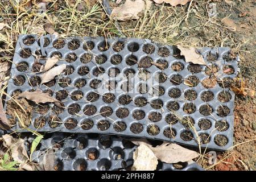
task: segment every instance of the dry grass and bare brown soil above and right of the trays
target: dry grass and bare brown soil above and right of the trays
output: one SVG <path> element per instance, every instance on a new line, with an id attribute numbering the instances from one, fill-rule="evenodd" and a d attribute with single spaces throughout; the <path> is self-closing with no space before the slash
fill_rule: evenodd
<path id="1" fill-rule="evenodd" d="M 238 75 L 245 81 L 247 96 L 236 96 L 234 148 L 217 153 L 217 164 L 208 163 L 208 155 L 200 163 L 209 170 L 256 169 L 256 61 L 254 0 L 193 1 L 184 6 L 155 5 L 138 20 L 118 22 L 109 19 L 100 1 L 52 1 L 47 11 L 36 14 L 37 6 L 29 11 L 15 10 L 9 1 L 0 3 L 0 22 L 7 26 L 0 31 L 0 61 L 13 58 L 19 34 L 46 34 L 49 27 L 63 36 L 120 36 L 147 38 L 166 44 L 183 43 L 195 47 L 230 47 L 240 56 Z M 209 18 L 210 3 L 216 3 L 217 15 Z M 110 1 L 112 7 L 117 6 Z M 48 23 L 48 24 L 46 24 Z M 47 29 L 48 27 L 48 29 Z M 7 76 L 7 75 L 6 75 Z"/>

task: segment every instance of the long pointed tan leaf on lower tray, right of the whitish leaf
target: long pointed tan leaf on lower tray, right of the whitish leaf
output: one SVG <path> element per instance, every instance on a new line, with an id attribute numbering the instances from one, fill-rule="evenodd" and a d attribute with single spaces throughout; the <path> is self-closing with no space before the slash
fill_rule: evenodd
<path id="1" fill-rule="evenodd" d="M 133 139 L 131 142 L 139 146 L 142 144 L 146 145 L 154 152 L 158 160 L 165 163 L 189 162 L 199 156 L 197 152 L 188 150 L 175 143 L 164 142 L 160 146 L 152 147 L 146 140 Z"/>

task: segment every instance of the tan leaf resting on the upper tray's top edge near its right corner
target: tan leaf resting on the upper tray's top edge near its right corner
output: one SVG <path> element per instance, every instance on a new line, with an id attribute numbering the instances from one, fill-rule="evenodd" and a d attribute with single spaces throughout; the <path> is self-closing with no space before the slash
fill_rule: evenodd
<path id="1" fill-rule="evenodd" d="M 180 55 L 185 57 L 187 63 L 206 65 L 203 56 L 197 53 L 196 48 L 182 47 L 181 45 L 177 45 L 177 48 L 180 49 Z"/>

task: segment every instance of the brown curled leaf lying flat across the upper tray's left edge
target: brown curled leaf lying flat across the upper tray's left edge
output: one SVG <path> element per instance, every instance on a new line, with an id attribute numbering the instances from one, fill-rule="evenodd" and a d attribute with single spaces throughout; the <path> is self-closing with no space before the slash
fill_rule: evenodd
<path id="1" fill-rule="evenodd" d="M 27 100 L 34 101 L 36 104 L 46 103 L 46 102 L 59 102 L 55 98 L 49 96 L 48 93 L 43 93 L 40 90 L 36 90 L 34 92 L 22 92 L 18 94 L 18 98 L 26 98 Z"/>

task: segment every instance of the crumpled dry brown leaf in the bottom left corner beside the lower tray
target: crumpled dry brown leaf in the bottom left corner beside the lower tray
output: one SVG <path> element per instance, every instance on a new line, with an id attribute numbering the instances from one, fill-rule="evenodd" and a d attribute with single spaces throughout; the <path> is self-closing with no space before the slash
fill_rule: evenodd
<path id="1" fill-rule="evenodd" d="M 33 171 L 34 166 L 28 164 L 30 159 L 28 158 L 24 142 L 25 141 L 21 138 L 16 140 L 11 135 L 3 135 L 3 145 L 11 149 L 13 160 L 20 164 L 20 168 Z"/>

